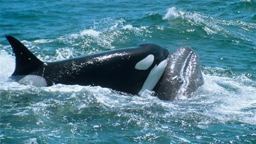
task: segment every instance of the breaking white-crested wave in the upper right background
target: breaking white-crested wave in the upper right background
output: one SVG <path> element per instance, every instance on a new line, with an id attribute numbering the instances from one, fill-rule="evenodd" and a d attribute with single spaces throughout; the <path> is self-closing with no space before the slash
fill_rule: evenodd
<path id="1" fill-rule="evenodd" d="M 255 37 L 250 34 L 255 32 L 255 23 L 224 20 L 199 12 L 183 11 L 175 7 L 169 8 L 163 19 L 168 20 L 169 25 L 184 25 L 187 31 L 202 29 L 207 35 L 222 35 L 223 37 L 233 37 L 255 43 Z M 233 27 L 236 27 L 239 31 L 237 29 L 234 31 Z"/>

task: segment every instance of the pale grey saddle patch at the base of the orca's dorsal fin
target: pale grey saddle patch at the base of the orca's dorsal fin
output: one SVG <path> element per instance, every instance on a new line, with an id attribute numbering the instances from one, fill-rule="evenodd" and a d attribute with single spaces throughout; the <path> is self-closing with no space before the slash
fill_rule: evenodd
<path id="1" fill-rule="evenodd" d="M 26 75 L 18 81 L 23 85 L 33 85 L 35 87 L 46 87 L 47 83 L 45 78 L 40 77 L 39 75 Z"/>

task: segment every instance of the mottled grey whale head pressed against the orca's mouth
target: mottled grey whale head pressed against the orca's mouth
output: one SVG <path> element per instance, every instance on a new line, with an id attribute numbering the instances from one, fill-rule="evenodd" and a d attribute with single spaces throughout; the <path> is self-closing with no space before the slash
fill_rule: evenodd
<path id="1" fill-rule="evenodd" d="M 189 47 L 182 47 L 168 56 L 165 73 L 154 88 L 159 99 L 171 101 L 178 95 L 189 97 L 203 85 L 197 53 Z"/>

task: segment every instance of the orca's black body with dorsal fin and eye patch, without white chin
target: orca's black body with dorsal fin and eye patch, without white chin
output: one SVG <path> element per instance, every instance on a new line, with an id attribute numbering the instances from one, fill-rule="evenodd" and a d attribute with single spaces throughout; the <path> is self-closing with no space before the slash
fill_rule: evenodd
<path id="1" fill-rule="evenodd" d="M 168 50 L 160 45 L 144 43 L 138 47 L 43 63 L 20 41 L 10 35 L 6 38 L 13 47 L 16 57 L 13 79 L 25 84 L 27 84 L 26 81 L 32 84 L 43 81 L 45 85 L 40 83 L 40 86 L 51 86 L 57 83 L 98 85 L 137 94 L 145 85 L 151 70 L 167 59 L 169 54 Z"/>

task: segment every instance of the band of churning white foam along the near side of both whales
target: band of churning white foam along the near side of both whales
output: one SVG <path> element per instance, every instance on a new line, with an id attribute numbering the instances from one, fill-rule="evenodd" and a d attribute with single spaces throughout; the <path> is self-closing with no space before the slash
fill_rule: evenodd
<path id="1" fill-rule="evenodd" d="M 2 95 L 1 101 L 6 103 L 11 97 L 13 101 L 23 101 L 21 99 L 27 99 L 27 95 L 31 95 L 29 97 L 33 97 L 33 100 L 29 107 L 33 107 L 31 109 L 36 115 L 45 113 L 45 109 L 51 113 L 54 105 L 63 105 L 67 109 L 72 107 L 72 113 L 81 113 L 97 105 L 100 109 L 110 109 L 111 111 L 117 111 L 117 109 L 123 112 L 127 109 L 137 111 L 138 113 L 136 112 L 135 115 L 141 115 L 141 112 L 149 113 L 150 117 L 158 117 L 157 119 L 167 119 L 167 117 L 169 117 L 168 119 L 170 117 L 177 119 L 179 117 L 186 121 L 197 121 L 198 127 L 211 123 L 228 123 L 229 121 L 256 124 L 255 81 L 245 75 L 227 76 L 225 72 L 221 72 L 227 71 L 225 69 L 207 67 L 213 73 L 203 75 L 205 84 L 190 98 L 181 97 L 182 100 L 161 101 L 153 96 L 151 91 L 146 91 L 143 95 L 138 96 L 104 87 L 61 84 L 51 87 L 19 85 L 8 78 L 14 67 L 13 57 L 3 52 L 0 53 L 0 56 L 0 61 L 5 61 L 5 63 L 0 63 L 5 67 L 0 73 L 0 91 L 5 93 Z M 223 74 L 220 76 L 220 73 Z M 15 98 L 12 93 L 17 93 L 19 98 Z M 17 112 L 13 115 L 29 115 L 27 111 L 30 111 L 30 108 L 24 109 L 16 109 Z M 162 112 L 153 113 L 154 109 Z M 68 115 L 69 112 L 71 111 L 66 111 L 62 115 Z M 131 113 L 123 114 L 131 115 Z M 197 115 L 197 119 L 195 120 L 195 117 L 191 115 Z"/>

